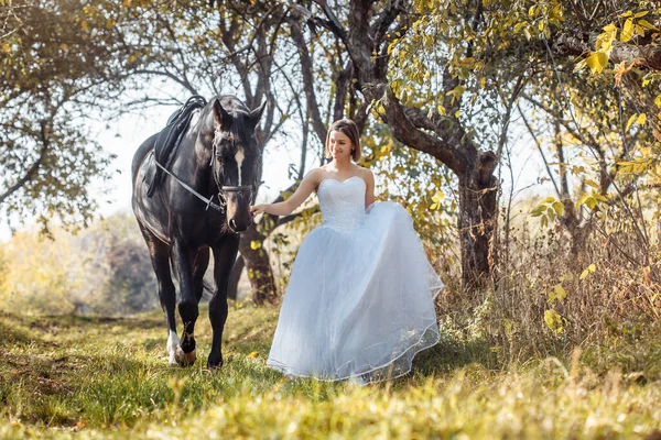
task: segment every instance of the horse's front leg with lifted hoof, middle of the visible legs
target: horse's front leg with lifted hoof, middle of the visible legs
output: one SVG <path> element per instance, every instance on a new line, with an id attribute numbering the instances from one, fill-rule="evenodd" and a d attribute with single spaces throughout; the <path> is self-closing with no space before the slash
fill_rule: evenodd
<path id="1" fill-rule="evenodd" d="M 193 365 L 196 359 L 194 333 L 198 315 L 195 286 L 193 285 L 193 254 L 191 249 L 182 240 L 174 240 L 171 246 L 170 257 L 172 258 L 172 266 L 176 274 L 180 292 L 182 294 L 178 311 L 184 324 L 182 340 L 176 351 L 176 362 L 182 366 L 188 366 Z"/>

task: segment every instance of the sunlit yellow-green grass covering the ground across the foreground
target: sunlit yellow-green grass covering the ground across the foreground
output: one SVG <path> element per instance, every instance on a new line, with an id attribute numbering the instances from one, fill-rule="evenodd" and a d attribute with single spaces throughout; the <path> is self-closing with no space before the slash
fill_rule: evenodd
<path id="1" fill-rule="evenodd" d="M 226 365 L 208 373 L 201 317 L 198 362 L 180 369 L 167 366 L 160 312 L 0 314 L 0 438 L 661 438 L 654 326 L 573 359 L 516 365 L 484 341 L 446 339 L 412 374 L 360 387 L 267 369 L 278 310 L 239 304 Z"/>

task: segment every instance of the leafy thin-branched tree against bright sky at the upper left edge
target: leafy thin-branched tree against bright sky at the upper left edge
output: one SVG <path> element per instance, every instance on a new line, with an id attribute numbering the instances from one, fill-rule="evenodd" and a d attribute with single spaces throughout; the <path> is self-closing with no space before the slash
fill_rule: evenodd
<path id="1" fill-rule="evenodd" d="M 0 207 L 7 216 L 86 223 L 94 179 L 112 175 L 83 121 L 122 92 L 112 25 L 91 29 L 102 1 L 7 2 L 0 40 Z"/>

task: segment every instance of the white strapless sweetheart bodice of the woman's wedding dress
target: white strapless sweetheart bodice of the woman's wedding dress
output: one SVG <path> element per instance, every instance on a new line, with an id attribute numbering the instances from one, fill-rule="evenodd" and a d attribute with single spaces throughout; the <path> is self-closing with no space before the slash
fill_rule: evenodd
<path id="1" fill-rule="evenodd" d="M 365 180 L 358 176 L 344 182 L 334 178 L 322 180 L 317 197 L 324 218 L 323 226 L 338 231 L 356 228 L 366 215 L 365 190 Z"/>

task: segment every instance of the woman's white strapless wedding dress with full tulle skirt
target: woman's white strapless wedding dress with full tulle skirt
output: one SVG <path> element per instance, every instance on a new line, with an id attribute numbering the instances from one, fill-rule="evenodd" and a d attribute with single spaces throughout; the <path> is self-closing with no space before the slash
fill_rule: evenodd
<path id="1" fill-rule="evenodd" d="M 324 222 L 299 249 L 267 365 L 290 376 L 361 383 L 401 376 L 438 341 L 443 284 L 409 212 L 365 209 L 365 180 L 324 179 Z"/>

